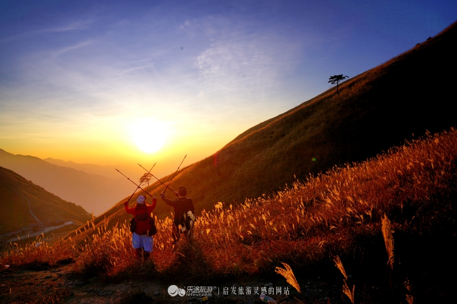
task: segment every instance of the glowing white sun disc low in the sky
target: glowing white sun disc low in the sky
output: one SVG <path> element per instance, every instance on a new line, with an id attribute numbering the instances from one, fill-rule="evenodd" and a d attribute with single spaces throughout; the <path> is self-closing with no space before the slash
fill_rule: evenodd
<path id="1" fill-rule="evenodd" d="M 137 146 L 146 153 L 158 151 L 168 137 L 167 123 L 154 118 L 137 120 L 131 126 L 131 136 Z"/>

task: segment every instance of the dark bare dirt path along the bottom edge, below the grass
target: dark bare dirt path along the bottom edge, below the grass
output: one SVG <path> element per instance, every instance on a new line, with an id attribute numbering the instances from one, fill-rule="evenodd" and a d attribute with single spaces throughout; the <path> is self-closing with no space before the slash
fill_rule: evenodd
<path id="1" fill-rule="evenodd" d="M 246 284 L 246 283 L 245 283 Z M 218 286 L 211 291 L 208 303 L 261 303 L 259 293 L 261 288 L 268 284 L 262 280 L 249 282 L 252 287 L 251 294 L 240 295 L 240 284 L 226 283 L 225 286 Z M 306 284 L 306 283 L 305 283 Z M 179 283 L 177 285 L 181 286 Z M 275 283 L 275 285 L 288 285 L 285 282 Z M 133 302 L 138 303 L 199 303 L 198 296 L 171 296 L 168 293 L 170 283 L 159 281 L 132 280 L 119 283 L 102 282 L 100 278 L 93 277 L 87 280 L 77 278 L 73 275 L 72 264 L 61 265 L 53 269 L 33 270 L 26 268 L 8 269 L 0 273 L 0 302 L 2 303 L 128 303 L 133 297 L 137 299 Z M 258 286 L 257 294 L 254 293 L 254 286 Z M 306 287 L 305 287 L 306 286 Z M 224 287 L 227 295 L 224 295 Z M 299 303 L 295 297 L 299 297 L 304 303 L 331 303 L 342 302 L 340 288 L 336 284 L 330 284 L 316 279 L 309 282 L 302 294 L 298 294 L 289 286 L 289 297 L 272 295 L 278 302 Z M 181 286 L 187 290 L 187 286 Z M 268 288 L 268 285 L 267 285 Z M 276 287 L 274 287 L 276 288 Z M 234 291 L 236 294 L 234 294 Z M 267 289 L 268 290 L 268 289 Z M 139 291 L 143 291 L 144 301 L 138 301 L 141 297 Z M 141 293 L 141 292 L 140 292 Z M 61 300 L 56 301 L 60 296 Z"/>

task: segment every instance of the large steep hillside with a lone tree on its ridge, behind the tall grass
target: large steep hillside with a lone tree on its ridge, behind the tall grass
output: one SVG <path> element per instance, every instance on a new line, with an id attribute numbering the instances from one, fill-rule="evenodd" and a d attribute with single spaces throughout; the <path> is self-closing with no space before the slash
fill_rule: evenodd
<path id="1" fill-rule="evenodd" d="M 250 128 L 215 155 L 182 169 L 171 188 L 185 185 L 201 212 L 219 201 L 243 203 L 271 194 L 295 177 L 303 180 L 334 165 L 364 161 L 426 130 L 448 129 L 457 124 L 457 98 L 448 77 L 457 69 L 456 53 L 453 24 L 340 84 L 339 94 L 332 88 Z M 147 190 L 158 196 L 163 188 L 155 183 Z M 159 202 L 155 214 L 163 218 L 170 211 Z M 122 204 L 104 216 L 128 218 Z"/>

